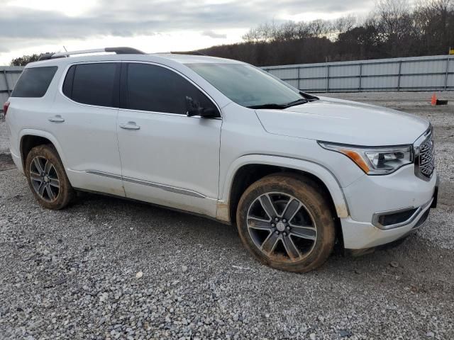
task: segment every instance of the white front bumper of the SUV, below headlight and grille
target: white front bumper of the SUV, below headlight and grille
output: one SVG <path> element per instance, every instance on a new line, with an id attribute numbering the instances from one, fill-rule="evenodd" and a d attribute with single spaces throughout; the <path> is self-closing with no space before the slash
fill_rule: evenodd
<path id="1" fill-rule="evenodd" d="M 343 191 L 350 210 L 341 218 L 345 249 L 371 249 L 423 225 L 436 207 L 438 175 L 434 170 L 424 181 L 415 176 L 414 166 L 405 166 L 387 176 L 362 176 Z"/>

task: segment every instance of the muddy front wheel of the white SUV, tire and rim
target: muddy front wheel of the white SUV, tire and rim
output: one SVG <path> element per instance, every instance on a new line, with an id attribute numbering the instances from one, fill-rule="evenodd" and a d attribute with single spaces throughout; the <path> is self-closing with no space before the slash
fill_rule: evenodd
<path id="1" fill-rule="evenodd" d="M 333 251 L 336 232 L 330 206 L 310 179 L 297 174 L 266 176 L 246 189 L 238 203 L 241 241 L 267 266 L 311 271 Z"/>

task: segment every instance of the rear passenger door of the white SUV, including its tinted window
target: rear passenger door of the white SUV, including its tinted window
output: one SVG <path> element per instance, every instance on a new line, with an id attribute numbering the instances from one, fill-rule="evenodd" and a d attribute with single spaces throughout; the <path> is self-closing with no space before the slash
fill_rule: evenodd
<path id="1" fill-rule="evenodd" d="M 120 62 L 67 67 L 48 115 L 72 186 L 124 196 L 116 136 Z"/>

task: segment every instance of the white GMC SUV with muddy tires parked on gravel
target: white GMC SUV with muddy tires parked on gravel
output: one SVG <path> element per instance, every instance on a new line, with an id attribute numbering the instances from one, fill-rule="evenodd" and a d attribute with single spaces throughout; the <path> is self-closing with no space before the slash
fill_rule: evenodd
<path id="1" fill-rule="evenodd" d="M 82 55 L 84 52 L 115 54 Z M 243 62 L 127 47 L 28 64 L 11 155 L 45 208 L 94 191 L 238 226 L 273 268 L 402 239 L 435 208 L 431 125 L 317 98 Z"/>

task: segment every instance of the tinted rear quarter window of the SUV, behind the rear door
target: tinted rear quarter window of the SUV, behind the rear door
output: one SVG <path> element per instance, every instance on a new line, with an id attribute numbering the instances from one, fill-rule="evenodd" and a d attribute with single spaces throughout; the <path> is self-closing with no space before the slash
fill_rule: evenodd
<path id="1" fill-rule="evenodd" d="M 56 66 L 24 69 L 11 97 L 40 98 L 48 91 Z"/>

